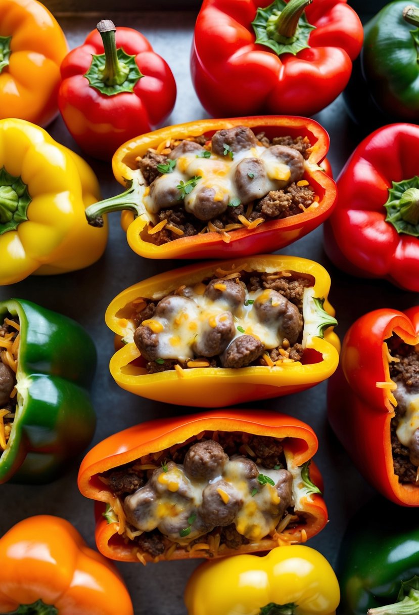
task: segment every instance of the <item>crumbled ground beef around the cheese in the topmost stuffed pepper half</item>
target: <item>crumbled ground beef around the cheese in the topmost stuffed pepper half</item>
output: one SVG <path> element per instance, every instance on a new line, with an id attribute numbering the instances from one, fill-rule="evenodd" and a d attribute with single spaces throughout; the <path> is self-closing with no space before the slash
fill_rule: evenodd
<path id="1" fill-rule="evenodd" d="M 225 145 L 224 138 L 229 141 L 231 153 L 233 153 L 235 148 L 240 149 L 240 147 L 243 147 L 243 143 L 240 140 L 240 138 L 242 138 L 239 132 L 240 129 L 243 129 L 243 127 L 218 131 L 216 133 L 216 135 L 222 133 L 222 146 Z M 246 130 L 253 135 L 250 129 Z M 232 138 L 229 139 L 228 135 L 230 135 L 230 133 L 232 134 Z M 225 137 L 225 135 L 227 135 L 227 137 Z M 279 146 L 280 148 L 289 148 L 291 151 L 294 150 L 298 153 L 302 161 L 307 160 L 310 156 L 311 145 L 307 137 L 292 138 L 287 135 L 284 137 L 274 137 L 272 140 L 269 140 L 264 133 L 259 133 L 256 136 L 253 135 L 253 139 L 255 144 L 257 143 L 257 145 L 266 149 L 272 146 Z M 213 145 L 214 142 L 215 145 Z M 166 144 L 167 147 L 163 149 L 161 153 L 155 149 L 149 149 L 143 157 L 138 158 L 136 161 L 147 186 L 154 187 L 155 180 L 158 180 L 164 175 L 163 169 L 165 169 L 171 159 L 173 160 L 172 156 L 176 155 L 176 151 L 179 150 L 179 147 L 182 148 L 182 145 L 185 143 L 188 144 L 186 149 L 189 149 L 190 143 L 199 146 L 200 150 L 202 150 L 198 153 L 199 155 L 203 152 L 210 154 L 211 151 L 217 147 L 214 138 L 210 141 L 207 140 L 205 136 L 201 136 L 191 141 L 172 140 Z M 250 143 L 249 145 L 253 144 Z M 176 151 L 172 154 L 174 150 Z M 224 152 L 221 150 L 220 153 Z M 244 169 L 244 177 L 246 180 L 248 180 L 249 177 L 253 177 L 254 174 L 255 170 L 253 167 L 252 169 L 249 167 L 249 170 L 247 167 Z M 208 197 L 209 193 L 206 194 L 207 199 Z M 197 217 L 194 213 L 188 212 L 182 202 L 177 198 L 175 199 L 173 197 L 169 200 L 173 202 L 175 207 L 165 207 L 163 205 L 155 215 L 155 223 L 150 224 L 144 236 L 146 240 L 152 241 L 156 245 L 165 244 L 174 239 L 179 239 L 179 237 L 190 237 L 208 231 L 222 232 L 223 239 L 228 242 L 230 231 L 236 228 L 243 228 L 243 226 L 246 225 L 243 223 L 243 218 L 245 218 L 245 221 L 247 220 L 249 223 L 259 226 L 259 224 L 267 220 L 297 215 L 313 204 L 315 200 L 315 191 L 307 181 L 302 181 L 301 174 L 301 177 L 299 176 L 296 181 L 289 181 L 289 184 L 283 186 L 281 189 L 270 190 L 262 198 L 254 198 L 248 202 L 248 199 L 244 197 L 243 200 L 245 200 L 246 204 L 241 203 L 240 198 L 232 199 L 229 206 L 221 207 L 223 210 L 222 212 L 217 213 L 214 210 L 214 215 L 208 216 L 205 214 L 205 219 L 200 219 L 202 216 Z M 157 227 L 157 224 L 164 224 L 164 226 L 158 231 L 154 231 L 153 229 Z M 256 228 L 256 226 L 254 226 L 254 228 Z"/>

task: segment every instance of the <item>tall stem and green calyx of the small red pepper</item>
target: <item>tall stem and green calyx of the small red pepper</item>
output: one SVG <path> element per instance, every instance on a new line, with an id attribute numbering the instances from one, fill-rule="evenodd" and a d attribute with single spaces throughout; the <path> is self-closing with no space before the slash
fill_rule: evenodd
<path id="1" fill-rule="evenodd" d="M 106 96 L 133 92 L 139 79 L 144 77 L 135 55 L 126 54 L 122 47 L 116 48 L 116 27 L 111 20 L 102 20 L 96 28 L 103 41 L 104 54 L 92 55 L 92 63 L 84 77 L 91 87 Z"/>

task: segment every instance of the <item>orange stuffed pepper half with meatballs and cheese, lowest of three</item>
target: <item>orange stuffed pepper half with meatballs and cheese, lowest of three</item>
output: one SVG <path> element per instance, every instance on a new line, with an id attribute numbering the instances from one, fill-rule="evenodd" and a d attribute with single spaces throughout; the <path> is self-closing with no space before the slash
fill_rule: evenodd
<path id="1" fill-rule="evenodd" d="M 317 445 L 307 424 L 259 410 L 160 419 L 111 435 L 79 471 L 81 493 L 100 502 L 98 549 L 146 564 L 305 542 L 327 522 L 311 463 Z"/>

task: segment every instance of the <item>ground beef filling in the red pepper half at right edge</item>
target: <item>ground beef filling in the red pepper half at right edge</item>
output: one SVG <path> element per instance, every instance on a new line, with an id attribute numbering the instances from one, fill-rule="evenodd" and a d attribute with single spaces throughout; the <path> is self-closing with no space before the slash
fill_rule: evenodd
<path id="1" fill-rule="evenodd" d="M 419 486 L 419 428 L 413 432 L 409 445 L 402 443 L 396 433 L 401 419 L 407 411 L 410 396 L 419 397 L 419 346 L 405 344 L 397 336 L 387 341 L 394 361 L 390 363 L 390 377 L 397 384 L 394 396 L 396 415 L 391 419 L 391 449 L 393 451 L 394 474 L 401 483 Z"/>

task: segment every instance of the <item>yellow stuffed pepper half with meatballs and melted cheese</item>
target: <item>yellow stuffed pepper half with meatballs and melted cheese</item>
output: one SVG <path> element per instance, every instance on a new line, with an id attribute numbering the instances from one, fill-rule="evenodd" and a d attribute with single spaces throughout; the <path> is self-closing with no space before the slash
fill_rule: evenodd
<path id="1" fill-rule="evenodd" d="M 136 395 L 222 407 L 302 391 L 339 360 L 329 274 L 294 256 L 194 264 L 120 293 L 110 370 Z M 217 386 L 214 388 L 214 382 Z"/>

